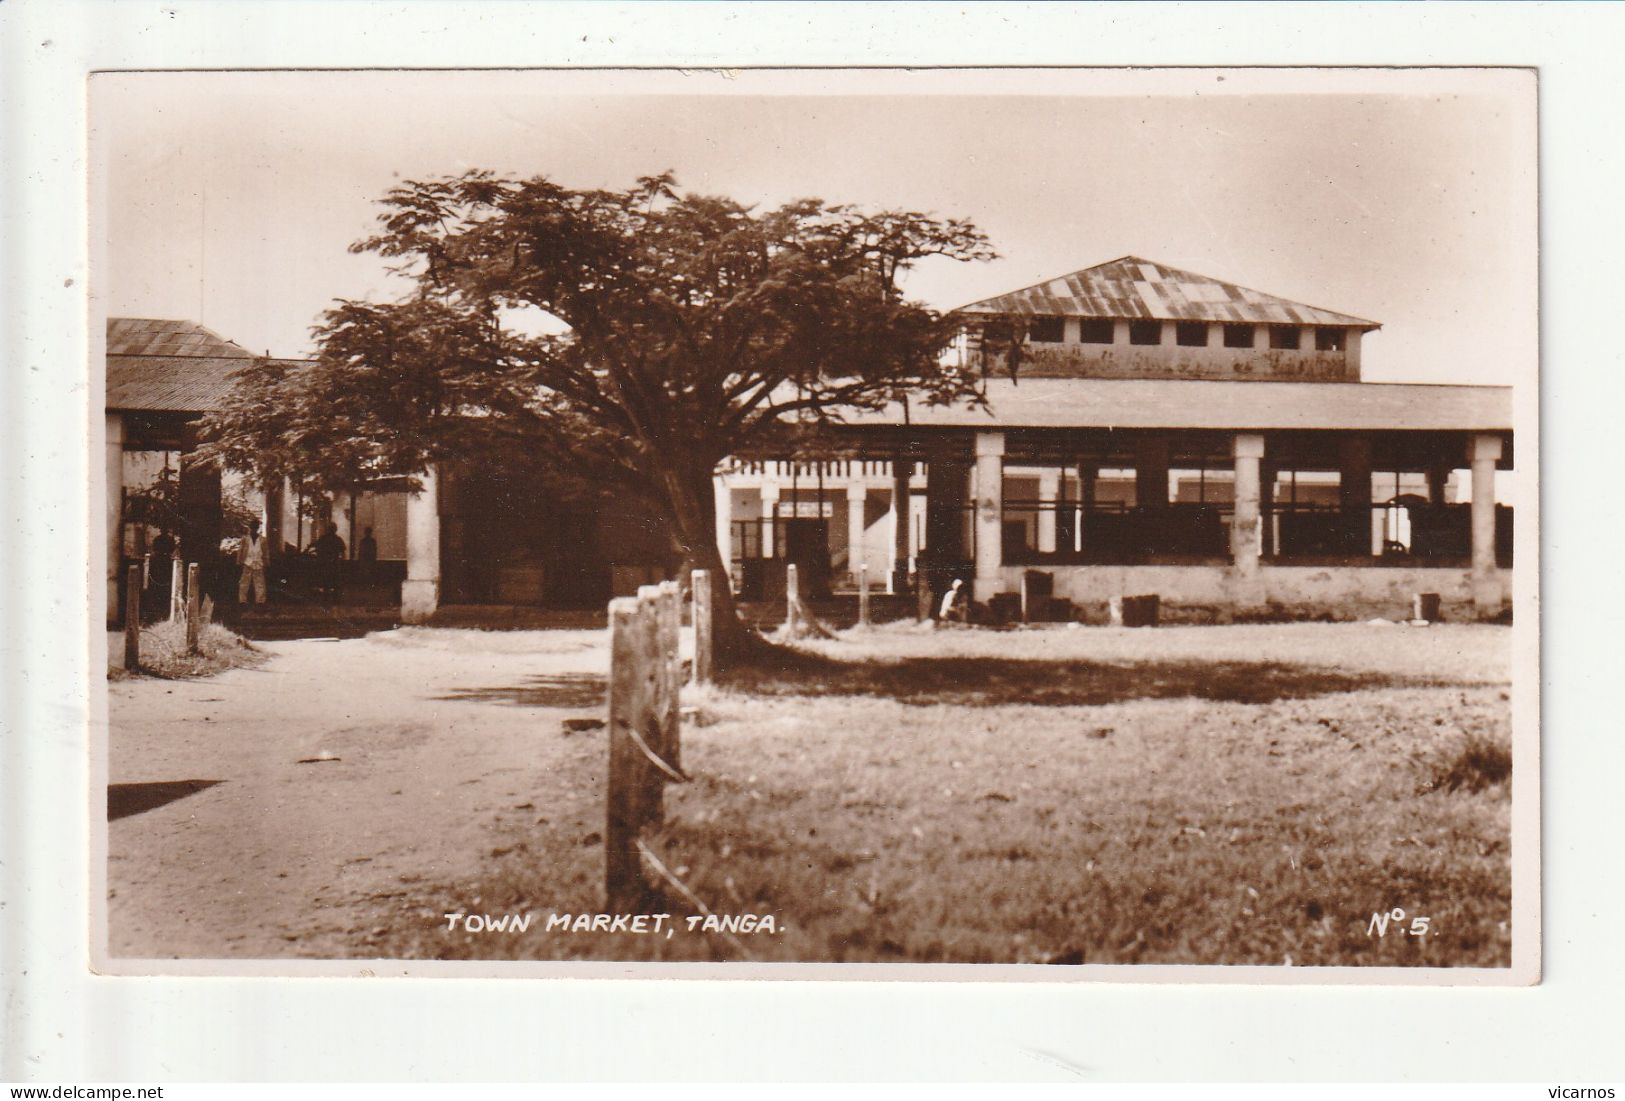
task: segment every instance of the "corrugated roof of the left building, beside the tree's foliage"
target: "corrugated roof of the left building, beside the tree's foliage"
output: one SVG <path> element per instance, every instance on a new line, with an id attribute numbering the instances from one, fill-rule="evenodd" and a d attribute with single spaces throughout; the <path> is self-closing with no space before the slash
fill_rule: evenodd
<path id="1" fill-rule="evenodd" d="M 218 409 L 231 393 L 232 373 L 254 359 L 254 352 L 193 322 L 107 318 L 107 409 Z"/>

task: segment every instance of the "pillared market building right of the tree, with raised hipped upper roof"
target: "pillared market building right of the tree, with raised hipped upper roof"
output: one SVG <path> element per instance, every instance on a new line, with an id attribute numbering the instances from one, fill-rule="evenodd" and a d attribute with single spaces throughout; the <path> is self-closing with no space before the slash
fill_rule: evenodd
<path id="1" fill-rule="evenodd" d="M 764 559 L 826 539 L 809 568 L 837 588 L 884 562 L 894 591 L 960 578 L 985 604 L 1038 572 L 1077 611 L 1142 593 L 1202 614 L 1508 606 L 1510 388 L 1362 382 L 1376 322 L 1136 257 L 960 312 L 985 408 L 858 412 L 834 466 L 764 453 L 718 474 L 743 593 Z"/>

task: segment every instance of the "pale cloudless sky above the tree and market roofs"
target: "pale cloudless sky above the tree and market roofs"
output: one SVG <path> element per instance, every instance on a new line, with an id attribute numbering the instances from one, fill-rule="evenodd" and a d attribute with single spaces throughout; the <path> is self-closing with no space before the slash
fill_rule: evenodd
<path id="1" fill-rule="evenodd" d="M 1378 382 L 1511 383 L 1536 339 L 1531 81 L 1344 70 L 102 73 L 93 297 L 275 356 L 405 286 L 348 245 L 471 167 L 968 218 L 951 309 L 1123 255 L 1381 322 Z"/>

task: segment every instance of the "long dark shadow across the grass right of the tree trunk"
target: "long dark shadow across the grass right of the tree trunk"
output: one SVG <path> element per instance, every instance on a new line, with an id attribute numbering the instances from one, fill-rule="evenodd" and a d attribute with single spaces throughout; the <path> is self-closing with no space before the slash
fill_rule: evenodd
<path id="1" fill-rule="evenodd" d="M 908 658 L 845 663 L 798 653 L 770 667 L 728 672 L 728 687 L 756 695 L 866 695 L 900 703 L 959 706 L 1097 706 L 1124 700 L 1222 700 L 1269 703 L 1386 687 L 1436 687 L 1440 680 L 1318 666 L 1253 661 L 1034 661 L 1008 658 Z"/>

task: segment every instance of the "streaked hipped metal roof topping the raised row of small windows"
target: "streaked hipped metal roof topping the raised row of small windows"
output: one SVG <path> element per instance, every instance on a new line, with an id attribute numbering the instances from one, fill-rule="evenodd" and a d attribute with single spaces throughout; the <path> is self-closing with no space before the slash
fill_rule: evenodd
<path id="1" fill-rule="evenodd" d="M 960 307 L 960 313 L 1146 318 L 1160 322 L 1250 322 L 1381 328 L 1349 313 L 1250 291 L 1193 271 L 1121 257 Z"/>

